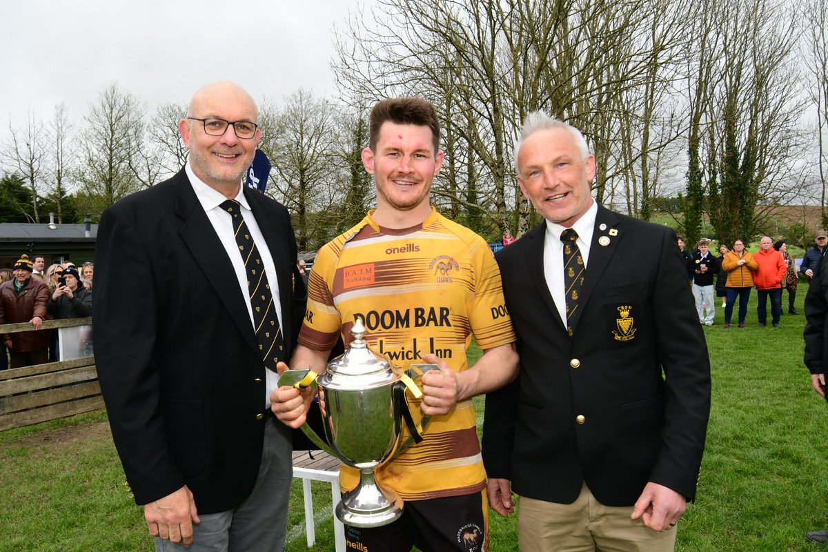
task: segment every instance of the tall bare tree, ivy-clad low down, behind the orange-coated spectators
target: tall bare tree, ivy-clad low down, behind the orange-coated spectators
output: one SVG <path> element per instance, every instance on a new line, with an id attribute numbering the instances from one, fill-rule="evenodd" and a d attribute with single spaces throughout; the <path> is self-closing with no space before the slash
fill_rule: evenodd
<path id="1" fill-rule="evenodd" d="M 716 177 L 709 179 L 707 211 L 719 238 L 732 242 L 752 236 L 765 213 L 797 195 L 804 108 L 794 57 L 797 17 L 781 0 L 713 8 L 721 48 L 709 110 L 707 147 L 716 166 L 707 170 Z"/>

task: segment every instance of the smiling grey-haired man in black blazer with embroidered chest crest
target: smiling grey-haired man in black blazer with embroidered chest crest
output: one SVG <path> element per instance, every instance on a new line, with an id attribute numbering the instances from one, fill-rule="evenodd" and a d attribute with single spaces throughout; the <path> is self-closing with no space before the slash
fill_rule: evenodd
<path id="1" fill-rule="evenodd" d="M 505 516 L 521 496 L 524 552 L 673 550 L 710 412 L 676 233 L 596 204 L 595 157 L 564 122 L 532 113 L 516 159 L 546 221 L 497 255 L 521 370 L 486 399 L 489 501 Z"/>

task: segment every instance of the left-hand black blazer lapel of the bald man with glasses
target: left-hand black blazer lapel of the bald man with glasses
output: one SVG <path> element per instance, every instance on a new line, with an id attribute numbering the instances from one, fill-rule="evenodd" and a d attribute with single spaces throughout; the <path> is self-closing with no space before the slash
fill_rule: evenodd
<path id="1" fill-rule="evenodd" d="M 253 333 L 253 324 L 250 322 L 242 290 L 238 286 L 236 272 L 219 236 L 215 233 L 213 224 L 209 222 L 204 209 L 201 209 L 184 170 L 176 175 L 173 187 L 176 202 L 174 209 L 184 221 L 181 226 L 181 238 L 190 249 L 204 277 L 213 286 L 216 297 L 224 303 L 239 332 L 258 353 L 258 341 Z"/>

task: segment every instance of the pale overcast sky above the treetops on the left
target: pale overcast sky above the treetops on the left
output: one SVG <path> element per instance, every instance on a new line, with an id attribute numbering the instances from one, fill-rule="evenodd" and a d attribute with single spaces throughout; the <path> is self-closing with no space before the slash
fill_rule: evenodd
<path id="1" fill-rule="evenodd" d="M 65 102 L 78 123 L 107 84 L 147 103 L 189 100 L 232 79 L 256 99 L 333 92 L 333 26 L 357 0 L 40 0 L 3 2 L 0 141 L 9 116 L 44 120 Z M 361 8 L 360 8 L 361 9 Z"/>

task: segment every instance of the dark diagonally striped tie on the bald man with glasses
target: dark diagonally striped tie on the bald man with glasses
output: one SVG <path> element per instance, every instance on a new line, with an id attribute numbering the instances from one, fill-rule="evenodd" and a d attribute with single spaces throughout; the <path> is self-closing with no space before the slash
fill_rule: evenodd
<path id="1" fill-rule="evenodd" d="M 238 251 L 242 254 L 244 270 L 248 274 L 248 297 L 253 308 L 253 326 L 259 350 L 262 352 L 262 361 L 265 367 L 276 372 L 276 363 L 285 358 L 285 340 L 276 307 L 273 305 L 273 295 L 270 292 L 270 282 L 264 271 L 262 257 L 258 254 L 256 242 L 250 235 L 247 223 L 242 216 L 241 205 L 234 199 L 228 199 L 220 205 L 233 217 L 233 232 L 236 235 Z"/>

